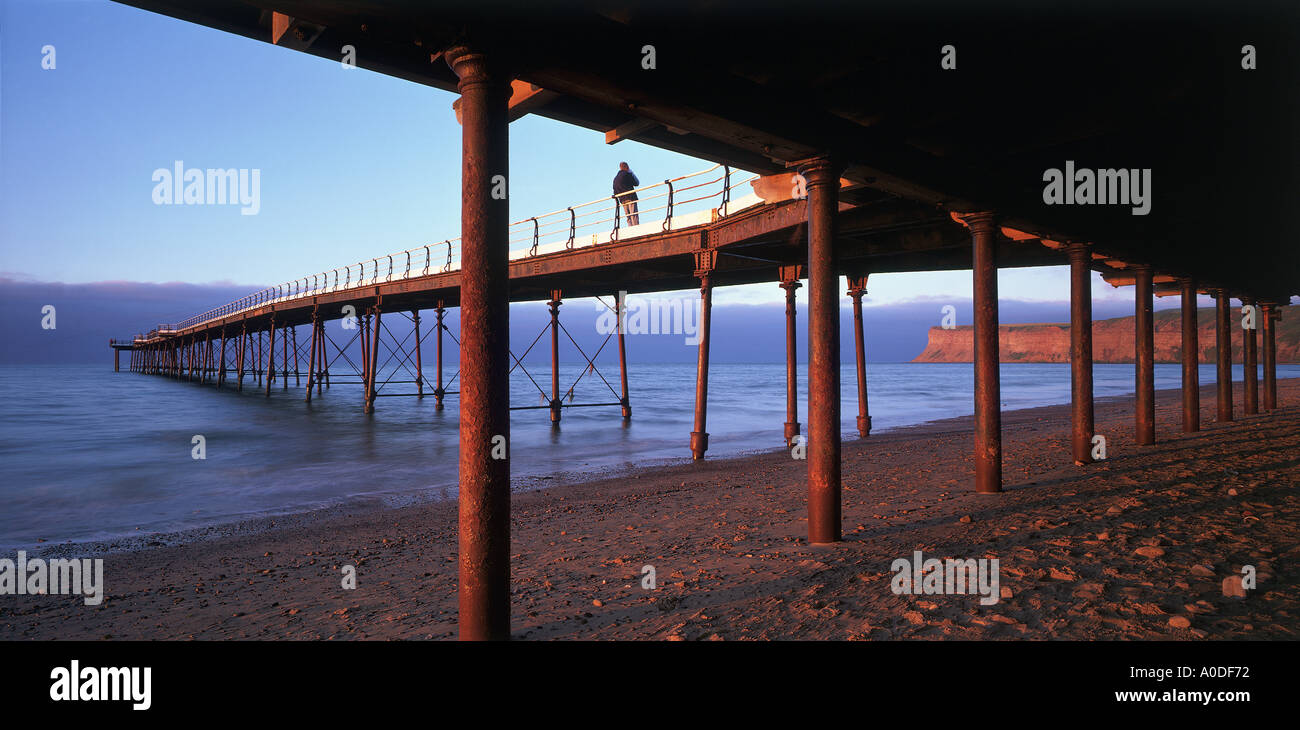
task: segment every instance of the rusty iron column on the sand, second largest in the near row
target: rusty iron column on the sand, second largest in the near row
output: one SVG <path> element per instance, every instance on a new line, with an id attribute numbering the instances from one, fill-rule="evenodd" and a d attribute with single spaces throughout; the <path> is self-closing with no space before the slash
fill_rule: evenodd
<path id="1" fill-rule="evenodd" d="M 840 540 L 840 275 L 835 223 L 838 164 L 802 165 L 809 212 L 809 542 Z"/>

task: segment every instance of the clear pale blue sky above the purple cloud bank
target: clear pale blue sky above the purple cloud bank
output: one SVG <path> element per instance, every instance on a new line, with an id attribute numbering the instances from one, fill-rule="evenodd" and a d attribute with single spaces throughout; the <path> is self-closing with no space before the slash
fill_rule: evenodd
<path id="1" fill-rule="evenodd" d="M 452 94 L 100 0 L 6 0 L 0 43 L 5 277 L 251 288 L 459 235 Z M 711 165 L 532 116 L 511 126 L 511 145 L 515 220 L 608 195 L 620 160 L 642 181 Z M 259 169 L 259 214 L 155 205 L 152 173 L 177 160 Z M 1000 287 L 1069 297 L 1061 266 L 1002 271 Z M 1093 288 L 1132 300 L 1100 278 Z M 781 296 L 755 284 L 715 301 Z M 867 304 L 970 296 L 968 271 L 885 274 Z"/>

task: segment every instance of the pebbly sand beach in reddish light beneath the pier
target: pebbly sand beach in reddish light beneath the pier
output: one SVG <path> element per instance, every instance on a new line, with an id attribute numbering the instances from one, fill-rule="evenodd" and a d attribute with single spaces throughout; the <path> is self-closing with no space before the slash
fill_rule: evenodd
<path id="1" fill-rule="evenodd" d="M 1091 466 L 1070 459 L 1069 407 L 1004 413 L 1001 495 L 972 492 L 970 418 L 846 440 L 835 546 L 807 544 L 806 462 L 784 451 L 517 494 L 514 635 L 1300 638 L 1300 381 L 1278 399 L 1247 417 L 1238 384 L 1238 421 L 1221 425 L 1204 388 L 1204 430 L 1184 435 L 1178 391 L 1161 391 L 1143 448 L 1132 400 L 1098 401 L 1109 459 Z M 451 639 L 455 509 L 330 510 L 109 552 L 101 605 L 0 596 L 0 639 Z M 894 595 L 890 564 L 918 549 L 998 559 L 1005 598 Z M 1227 598 L 1242 565 L 1258 587 Z"/>

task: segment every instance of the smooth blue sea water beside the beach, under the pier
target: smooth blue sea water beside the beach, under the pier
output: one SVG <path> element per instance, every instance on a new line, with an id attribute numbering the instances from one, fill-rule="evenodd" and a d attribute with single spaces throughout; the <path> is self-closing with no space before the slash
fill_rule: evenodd
<path id="1" fill-rule="evenodd" d="M 581 366 L 560 370 L 567 387 Z M 618 374 L 616 368 L 602 370 Z M 1202 383 L 1213 382 L 1213 366 L 1202 366 L 1200 375 Z M 1279 365 L 1278 375 L 1297 377 L 1300 366 Z M 633 418 L 627 425 L 618 407 L 566 409 L 559 430 L 551 429 L 546 410 L 514 412 L 511 462 L 520 488 L 689 460 L 694 377 L 693 364 L 629 365 Z M 846 434 L 855 434 L 854 377 L 845 366 Z M 547 381 L 540 379 L 542 387 Z M 1131 365 L 1096 366 L 1098 397 L 1130 394 L 1132 381 Z M 618 387 L 616 379 L 610 382 Z M 875 430 L 972 410 L 972 369 L 966 364 L 871 364 L 867 382 Z M 1178 384 L 1178 365 L 1156 366 L 1157 388 Z M 526 377 L 512 375 L 515 405 L 536 405 L 538 397 Z M 1004 409 L 1069 399 L 1069 365 L 1002 365 Z M 599 378 L 585 378 L 575 395 L 575 403 L 610 400 L 615 397 Z M 218 391 L 100 365 L 0 366 L 0 404 L 4 548 L 306 512 L 376 495 L 390 503 L 455 496 L 454 395 L 442 412 L 434 410 L 432 396 L 381 397 L 377 412 L 367 416 L 359 384 L 334 384 L 308 405 L 303 388 L 278 384 L 266 399 L 256 388 Z M 783 364 L 712 366 L 710 455 L 776 448 L 784 421 Z M 191 459 L 196 434 L 207 442 L 202 461 Z"/>

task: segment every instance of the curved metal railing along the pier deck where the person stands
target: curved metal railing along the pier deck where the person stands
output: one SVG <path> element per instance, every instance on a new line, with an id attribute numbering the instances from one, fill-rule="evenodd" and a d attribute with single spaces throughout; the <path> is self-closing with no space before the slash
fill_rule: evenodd
<path id="1" fill-rule="evenodd" d="M 708 223 L 762 203 L 762 199 L 751 192 L 734 195 L 737 188 L 757 178 L 758 175 L 750 174 L 737 175 L 725 165 L 714 165 L 698 173 L 638 187 L 633 191 L 638 207 L 634 225 L 629 225 L 629 216 L 624 210 L 624 203 L 630 197 L 628 194 L 599 197 L 515 221 L 510 225 L 510 258 L 528 258 Z M 459 269 L 459 238 L 428 243 L 266 287 L 179 322 L 159 325 L 146 335 L 146 339 L 173 334 L 265 304 Z"/>

